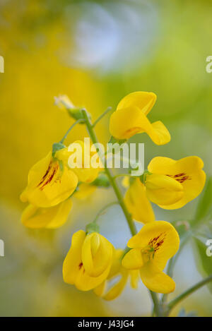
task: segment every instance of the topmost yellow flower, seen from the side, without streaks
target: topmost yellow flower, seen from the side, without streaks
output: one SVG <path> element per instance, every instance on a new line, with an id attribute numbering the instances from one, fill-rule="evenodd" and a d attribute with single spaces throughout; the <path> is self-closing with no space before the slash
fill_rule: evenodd
<path id="1" fill-rule="evenodd" d="M 157 145 L 170 141 L 170 133 L 161 121 L 153 124 L 146 117 L 156 101 L 153 92 L 133 92 L 126 95 L 110 117 L 110 133 L 117 139 L 129 139 L 146 132 Z"/>

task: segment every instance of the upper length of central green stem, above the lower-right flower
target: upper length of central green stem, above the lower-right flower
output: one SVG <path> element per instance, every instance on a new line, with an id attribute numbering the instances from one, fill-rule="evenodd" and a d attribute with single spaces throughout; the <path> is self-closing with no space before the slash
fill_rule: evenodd
<path id="1" fill-rule="evenodd" d="M 88 117 L 88 113 L 86 112 L 86 109 L 82 110 L 82 114 L 84 116 L 85 122 L 86 122 L 86 126 L 87 126 L 87 130 L 90 136 L 90 139 L 92 140 L 93 144 L 97 144 L 98 143 L 98 138 L 95 135 L 95 132 L 93 131 L 93 124 L 90 122 L 90 119 Z M 100 152 L 99 152 L 100 155 Z M 102 158 L 102 156 L 100 155 L 100 158 Z M 119 186 L 117 186 L 117 183 L 114 180 L 114 177 L 112 176 L 112 173 L 110 171 L 110 169 L 107 168 L 107 161 L 102 161 L 102 163 L 105 166 L 105 174 L 107 174 L 107 177 L 110 181 L 110 184 L 112 186 L 112 188 L 114 189 L 114 193 L 117 195 L 117 199 L 119 201 L 119 205 L 122 207 L 122 210 L 124 212 L 124 215 L 126 217 L 126 221 L 129 225 L 129 229 L 131 231 L 131 234 L 134 236 L 137 231 L 136 231 L 136 226 L 131 218 L 131 215 L 129 213 L 129 211 L 126 208 L 126 205 L 124 203 L 124 200 L 122 198 L 122 193 L 119 189 Z"/>

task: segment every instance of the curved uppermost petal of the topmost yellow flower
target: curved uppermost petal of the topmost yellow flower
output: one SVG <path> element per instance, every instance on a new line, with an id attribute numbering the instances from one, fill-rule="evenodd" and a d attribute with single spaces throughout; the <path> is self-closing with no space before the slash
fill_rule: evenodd
<path id="1" fill-rule="evenodd" d="M 132 92 L 126 95 L 118 104 L 117 109 L 138 107 L 147 115 L 153 108 L 157 96 L 153 92 Z"/>

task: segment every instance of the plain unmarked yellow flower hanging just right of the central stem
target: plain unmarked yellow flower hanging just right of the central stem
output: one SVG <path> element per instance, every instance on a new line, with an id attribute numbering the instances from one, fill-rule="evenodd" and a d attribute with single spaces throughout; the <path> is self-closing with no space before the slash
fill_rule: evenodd
<path id="1" fill-rule="evenodd" d="M 139 178 L 136 178 L 126 191 L 124 202 L 133 219 L 148 223 L 155 220 L 150 201 L 146 198 L 146 188 Z"/>

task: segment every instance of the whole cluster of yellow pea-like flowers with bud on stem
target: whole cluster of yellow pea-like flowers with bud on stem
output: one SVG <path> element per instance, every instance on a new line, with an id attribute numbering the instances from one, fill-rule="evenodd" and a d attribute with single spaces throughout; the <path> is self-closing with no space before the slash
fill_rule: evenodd
<path id="1" fill-rule="evenodd" d="M 170 133 L 161 121 L 151 123 L 148 113 L 156 101 L 153 92 L 134 92 L 122 99 L 110 117 L 110 133 L 119 143 L 136 133 L 147 133 L 157 145 L 170 141 Z M 95 140 L 94 125 L 85 109 L 73 106 L 67 97 L 57 98 L 57 104 L 87 126 L 90 138 Z M 82 141 L 81 145 L 86 157 Z M 74 144 L 73 143 L 73 144 Z M 93 152 L 90 151 L 90 155 Z M 54 144 L 47 157 L 29 171 L 28 186 L 20 198 L 28 202 L 22 222 L 31 228 L 56 228 L 66 222 L 71 210 L 71 196 L 78 198 L 93 193 L 98 186 L 114 188 L 117 203 L 122 207 L 132 237 L 125 249 L 116 249 L 99 233 L 97 219 L 86 231 L 73 234 L 71 248 L 63 265 L 64 282 L 81 291 L 93 289 L 105 300 L 115 299 L 130 279 L 131 287 L 138 286 L 139 278 L 151 291 L 167 294 L 175 290 L 175 282 L 163 270 L 167 260 L 179 248 L 179 235 L 170 222 L 156 221 L 151 203 L 166 210 L 183 207 L 196 198 L 204 188 L 206 174 L 199 157 L 172 160 L 154 157 L 141 176 L 124 177 L 124 198 L 114 176 L 107 166 L 93 168 L 91 164 L 73 167 L 73 149 L 64 145 L 64 139 Z M 136 233 L 134 221 L 144 225 Z"/>

